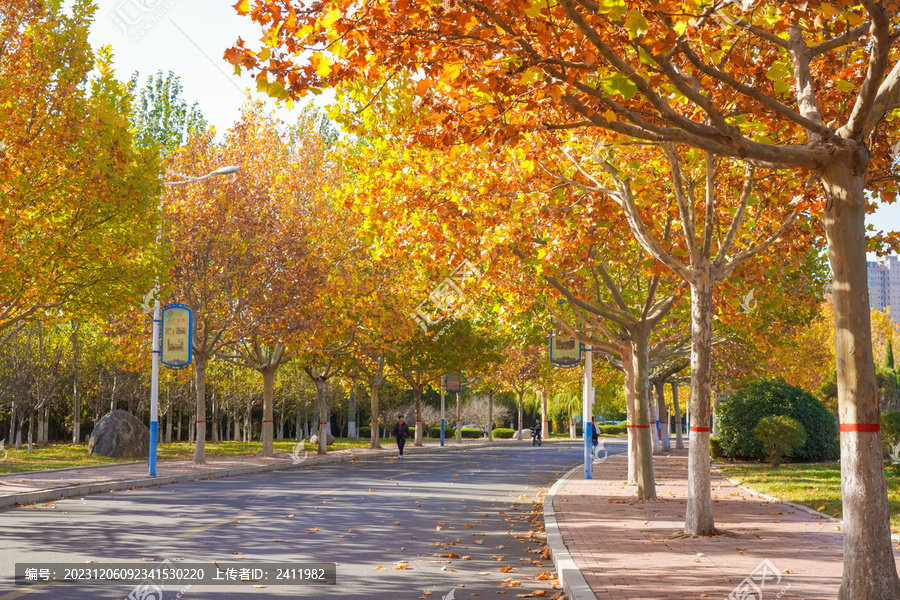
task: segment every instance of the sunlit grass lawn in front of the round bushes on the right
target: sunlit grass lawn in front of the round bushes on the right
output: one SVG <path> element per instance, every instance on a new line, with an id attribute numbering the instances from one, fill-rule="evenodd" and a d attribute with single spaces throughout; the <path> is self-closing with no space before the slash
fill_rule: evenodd
<path id="1" fill-rule="evenodd" d="M 723 473 L 763 494 L 803 504 L 841 518 L 841 466 L 838 464 L 729 465 L 717 463 Z M 885 470 L 891 531 L 900 533 L 900 474 Z M 824 508 L 822 508 L 824 507 Z"/>

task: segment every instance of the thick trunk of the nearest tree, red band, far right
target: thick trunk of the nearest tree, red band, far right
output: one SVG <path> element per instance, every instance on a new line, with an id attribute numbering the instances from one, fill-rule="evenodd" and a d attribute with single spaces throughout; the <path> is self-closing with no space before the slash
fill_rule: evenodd
<path id="1" fill-rule="evenodd" d="M 859 151 L 857 160 L 833 160 L 822 172 L 841 423 L 844 573 L 840 600 L 900 598 L 869 321 L 865 231 L 869 157 L 863 152 Z"/>

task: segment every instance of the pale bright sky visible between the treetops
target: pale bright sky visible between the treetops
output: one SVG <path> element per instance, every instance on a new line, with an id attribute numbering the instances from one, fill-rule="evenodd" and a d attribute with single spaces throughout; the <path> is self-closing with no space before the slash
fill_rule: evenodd
<path id="1" fill-rule="evenodd" d="M 98 10 L 91 28 L 91 45 L 110 45 L 121 79 L 135 71 L 140 82 L 157 71 L 180 76 L 183 97 L 195 101 L 207 121 L 224 132 L 237 119 L 248 90 L 254 98 L 253 79 L 238 77 L 222 55 L 238 37 L 257 47 L 260 29 L 239 16 L 230 0 L 97 0 Z M 273 110 L 277 104 L 269 100 Z M 300 112 L 277 108 L 290 122 Z M 879 207 L 866 222 L 876 230 L 900 230 L 900 202 Z"/>

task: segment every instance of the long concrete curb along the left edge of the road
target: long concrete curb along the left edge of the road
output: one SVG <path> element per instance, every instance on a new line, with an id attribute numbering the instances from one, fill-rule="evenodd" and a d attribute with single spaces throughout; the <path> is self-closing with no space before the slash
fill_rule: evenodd
<path id="1" fill-rule="evenodd" d="M 496 447 L 497 444 L 491 442 L 480 442 L 474 444 L 452 445 L 452 446 L 432 446 L 430 448 L 415 448 L 407 446 L 408 454 L 432 454 L 435 452 L 455 452 L 460 450 L 475 450 L 478 448 Z M 16 504 L 30 504 L 33 502 L 46 502 L 48 500 L 59 500 L 70 496 L 85 496 L 88 494 L 99 494 L 102 492 L 113 492 L 117 490 L 144 488 L 168 485 L 172 483 L 184 483 L 188 481 L 202 481 L 206 479 L 220 479 L 222 477 L 237 477 L 240 475 L 249 475 L 251 473 L 265 473 L 268 471 L 282 471 L 288 469 L 305 468 L 310 465 L 323 465 L 336 462 L 347 462 L 352 460 L 368 460 L 373 458 L 381 458 L 384 456 L 392 456 L 396 454 L 396 450 L 375 450 L 366 454 L 343 454 L 338 456 L 315 456 L 304 460 L 299 464 L 293 461 L 279 461 L 267 465 L 251 465 L 248 467 L 236 467 L 231 469 L 214 469 L 210 471 L 202 471 L 199 473 L 184 473 L 181 475 L 167 475 L 157 477 L 141 477 L 137 479 L 110 479 L 107 481 L 95 481 L 86 484 L 73 485 L 68 487 L 51 488 L 46 490 L 36 490 L 33 492 L 23 492 L 21 494 L 9 494 L 0 496 L 0 508 L 14 506 Z M 109 466 L 109 465 L 102 465 Z"/>

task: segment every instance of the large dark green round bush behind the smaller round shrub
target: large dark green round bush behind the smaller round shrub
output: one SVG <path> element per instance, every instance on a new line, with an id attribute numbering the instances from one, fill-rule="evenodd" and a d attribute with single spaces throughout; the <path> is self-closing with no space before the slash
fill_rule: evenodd
<path id="1" fill-rule="evenodd" d="M 763 417 L 776 415 L 792 417 L 806 430 L 806 442 L 791 454 L 792 461 L 837 458 L 838 430 L 834 415 L 812 394 L 781 379 L 757 381 L 719 405 L 716 416 L 723 455 L 743 460 L 768 460 L 753 429 Z"/>

